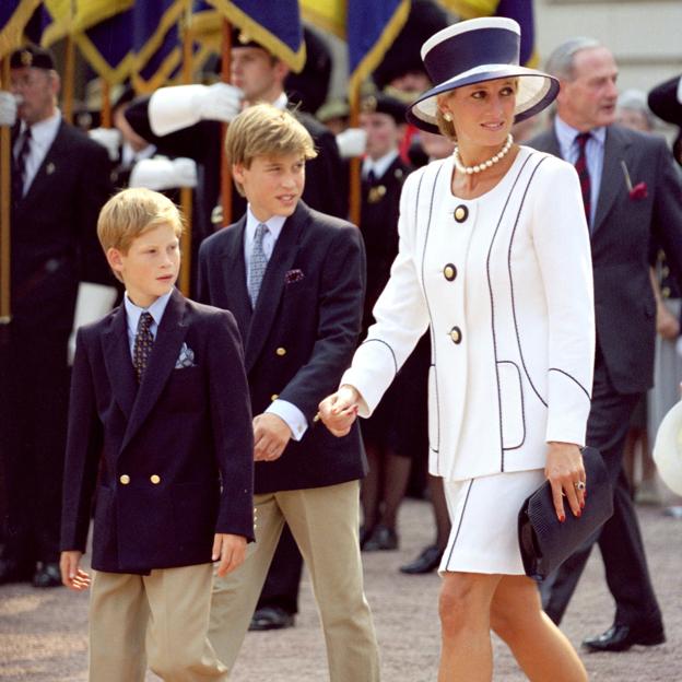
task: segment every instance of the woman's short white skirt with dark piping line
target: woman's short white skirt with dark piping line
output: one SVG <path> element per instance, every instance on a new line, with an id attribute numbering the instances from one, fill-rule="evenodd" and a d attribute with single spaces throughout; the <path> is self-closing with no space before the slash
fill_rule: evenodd
<path id="1" fill-rule="evenodd" d="M 438 573 L 524 575 L 518 510 L 543 481 L 542 469 L 444 480 L 452 529 Z"/>

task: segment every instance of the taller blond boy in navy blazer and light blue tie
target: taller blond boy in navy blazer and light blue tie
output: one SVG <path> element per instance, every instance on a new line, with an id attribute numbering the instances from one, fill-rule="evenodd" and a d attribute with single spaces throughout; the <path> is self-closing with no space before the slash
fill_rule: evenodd
<path id="1" fill-rule="evenodd" d="M 230 309 L 245 339 L 258 528 L 244 565 L 215 581 L 209 636 L 232 667 L 286 521 L 310 572 L 331 682 L 374 682 L 378 648 L 357 542 L 360 433 L 336 439 L 314 421 L 357 343 L 362 239 L 301 200 L 315 151 L 289 111 L 249 107 L 230 125 L 226 153 L 248 208 L 201 245 L 199 297 Z"/>

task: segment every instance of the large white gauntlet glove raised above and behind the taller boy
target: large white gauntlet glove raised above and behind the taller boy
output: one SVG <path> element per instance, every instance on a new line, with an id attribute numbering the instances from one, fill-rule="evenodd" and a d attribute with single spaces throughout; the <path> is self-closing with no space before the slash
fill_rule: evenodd
<path id="1" fill-rule="evenodd" d="M 242 110 L 243 96 L 227 83 L 161 87 L 150 98 L 150 126 L 154 134 L 165 136 L 201 119 L 230 122 Z"/>

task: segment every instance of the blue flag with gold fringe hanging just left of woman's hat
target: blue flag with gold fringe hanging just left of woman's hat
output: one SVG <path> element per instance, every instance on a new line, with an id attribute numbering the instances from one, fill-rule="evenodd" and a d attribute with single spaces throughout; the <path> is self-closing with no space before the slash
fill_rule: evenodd
<path id="1" fill-rule="evenodd" d="M 345 32 L 351 103 L 402 30 L 409 13 L 410 0 L 348 0 Z"/>

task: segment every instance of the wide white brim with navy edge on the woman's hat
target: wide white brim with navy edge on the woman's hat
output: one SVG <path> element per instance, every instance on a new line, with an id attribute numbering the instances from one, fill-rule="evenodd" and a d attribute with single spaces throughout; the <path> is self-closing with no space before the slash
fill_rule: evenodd
<path id="1" fill-rule="evenodd" d="M 436 121 L 438 95 L 443 95 L 457 87 L 463 87 L 465 85 L 473 85 L 474 83 L 507 78 L 519 79 L 514 122 L 525 120 L 526 118 L 539 114 L 542 109 L 546 108 L 558 94 L 558 81 L 546 73 L 542 73 L 542 71 L 513 64 L 489 64 L 484 70 L 475 69 L 475 72 L 472 70 L 468 74 L 460 74 L 426 91 L 419 99 L 410 105 L 405 115 L 407 119 L 421 130 L 439 133 L 440 130 Z"/>

